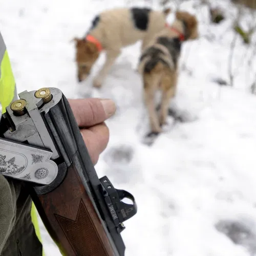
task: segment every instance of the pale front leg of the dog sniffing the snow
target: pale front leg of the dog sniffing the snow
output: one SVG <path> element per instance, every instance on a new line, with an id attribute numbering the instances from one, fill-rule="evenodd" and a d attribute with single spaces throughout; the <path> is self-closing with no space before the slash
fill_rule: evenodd
<path id="1" fill-rule="evenodd" d="M 101 68 L 101 70 L 99 71 L 97 77 L 93 81 L 94 87 L 97 87 L 97 88 L 101 87 L 103 80 L 108 75 L 110 68 L 112 67 L 112 65 L 114 64 L 116 58 L 118 57 L 118 55 L 120 53 L 121 53 L 120 50 L 106 52 L 106 61 L 103 65 L 103 67 Z"/>

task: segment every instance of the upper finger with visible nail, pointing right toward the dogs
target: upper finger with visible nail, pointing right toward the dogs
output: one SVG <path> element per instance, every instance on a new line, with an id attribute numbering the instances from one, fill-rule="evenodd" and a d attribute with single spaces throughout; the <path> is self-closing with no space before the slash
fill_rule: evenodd
<path id="1" fill-rule="evenodd" d="M 116 111 L 115 102 L 111 99 L 69 99 L 69 103 L 80 127 L 102 123 Z"/>

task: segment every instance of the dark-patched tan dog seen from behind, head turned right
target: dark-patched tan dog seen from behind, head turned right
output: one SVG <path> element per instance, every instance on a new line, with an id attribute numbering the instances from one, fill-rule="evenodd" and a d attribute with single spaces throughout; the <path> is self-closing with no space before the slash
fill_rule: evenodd
<path id="1" fill-rule="evenodd" d="M 198 37 L 196 16 L 177 11 L 172 26 L 166 24 L 142 52 L 138 73 L 143 79 L 143 98 L 150 119 L 148 136 L 161 133 L 166 123 L 169 101 L 176 94 L 182 42 Z M 158 90 L 162 92 L 159 116 L 154 103 Z"/>

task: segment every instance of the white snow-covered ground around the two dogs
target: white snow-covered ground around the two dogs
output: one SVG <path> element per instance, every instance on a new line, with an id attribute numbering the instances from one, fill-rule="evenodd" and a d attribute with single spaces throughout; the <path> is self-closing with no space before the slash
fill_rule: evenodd
<path id="1" fill-rule="evenodd" d="M 206 8 L 193 9 L 191 3 L 183 9 L 197 14 L 202 36 L 183 47 L 186 68 L 173 103 L 196 120 L 177 124 L 152 147 L 139 137 L 147 122 L 141 79 L 134 71 L 139 43 L 123 50 L 100 91 L 91 89 L 91 78 L 76 82 L 70 40 L 86 32 L 97 12 L 124 6 L 124 1 L 1 3 L 0 28 L 18 92 L 57 87 L 70 98 L 91 93 L 118 105 L 96 170 L 137 200 L 138 213 L 122 232 L 127 256 L 256 255 L 256 97 L 249 93 L 254 75 L 245 65 L 250 54 L 238 39 L 234 87 L 219 87 L 213 79 L 228 81 L 232 8 L 222 1 L 230 19 L 209 26 Z M 207 40 L 209 34 L 215 39 Z M 47 255 L 60 255 L 41 229 Z"/>

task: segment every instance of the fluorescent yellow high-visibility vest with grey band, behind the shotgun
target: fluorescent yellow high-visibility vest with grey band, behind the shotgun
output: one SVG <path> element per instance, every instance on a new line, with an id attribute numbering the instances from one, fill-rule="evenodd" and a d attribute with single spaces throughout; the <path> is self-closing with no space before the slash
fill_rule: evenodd
<path id="1" fill-rule="evenodd" d="M 16 97 L 16 86 L 12 73 L 11 62 L 6 50 L 4 39 L 0 32 L 0 104 L 2 105 L 2 114 L 6 112 L 6 107 L 14 99 L 16 99 Z M 33 202 L 31 208 L 31 219 L 35 228 L 36 236 L 41 242 L 40 230 L 36 216 L 36 208 Z M 42 254 L 44 255 L 44 252 Z"/>

